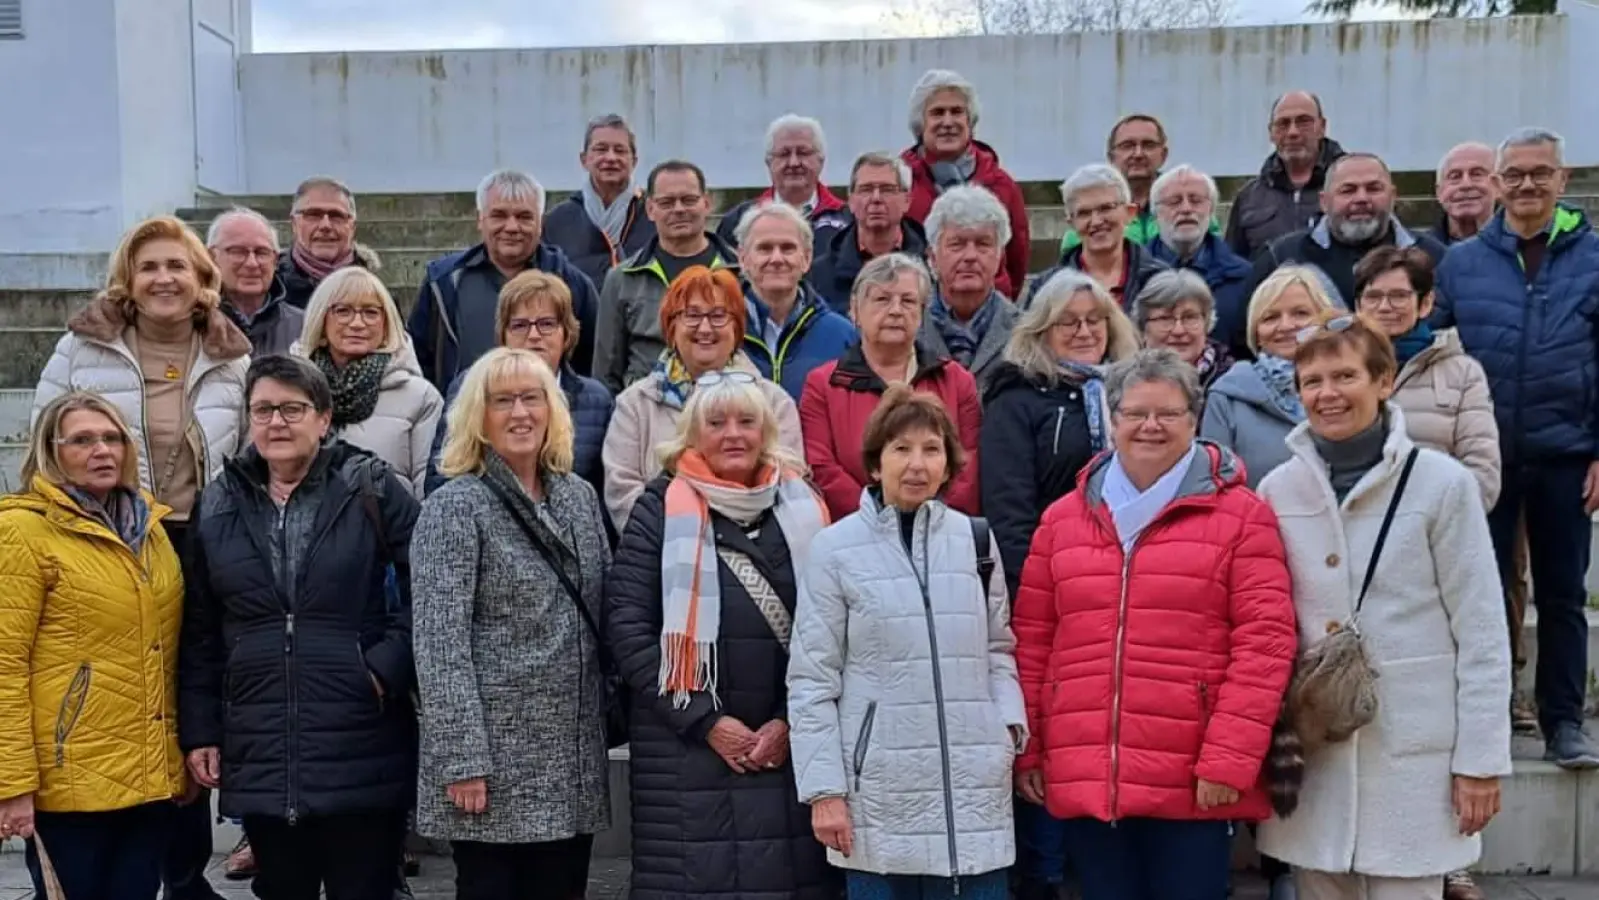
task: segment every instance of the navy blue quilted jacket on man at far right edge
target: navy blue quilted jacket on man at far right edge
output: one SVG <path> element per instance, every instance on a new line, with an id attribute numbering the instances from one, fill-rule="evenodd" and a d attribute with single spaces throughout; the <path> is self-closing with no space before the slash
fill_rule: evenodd
<path id="1" fill-rule="evenodd" d="M 1506 467 L 1599 459 L 1599 235 L 1559 208 L 1527 283 L 1505 213 L 1438 269 L 1434 328 L 1457 328 L 1482 363 Z"/>

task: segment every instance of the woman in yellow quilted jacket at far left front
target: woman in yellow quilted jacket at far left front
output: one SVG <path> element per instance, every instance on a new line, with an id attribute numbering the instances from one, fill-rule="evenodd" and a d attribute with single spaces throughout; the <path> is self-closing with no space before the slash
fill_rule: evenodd
<path id="1" fill-rule="evenodd" d="M 0 841 L 27 841 L 38 897 L 155 897 L 185 793 L 184 582 L 138 454 L 110 401 L 69 392 L 0 499 Z"/>

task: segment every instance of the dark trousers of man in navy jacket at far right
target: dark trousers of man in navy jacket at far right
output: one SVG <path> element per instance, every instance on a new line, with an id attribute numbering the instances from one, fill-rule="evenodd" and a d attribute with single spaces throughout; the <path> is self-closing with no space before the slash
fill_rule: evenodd
<path id="1" fill-rule="evenodd" d="M 1500 579 L 1516 575 L 1516 518 L 1527 513 L 1532 601 L 1538 609 L 1538 726 L 1583 721 L 1588 691 L 1588 552 L 1593 526 L 1583 512 L 1588 460 L 1506 465 L 1498 505 L 1489 513 Z"/>

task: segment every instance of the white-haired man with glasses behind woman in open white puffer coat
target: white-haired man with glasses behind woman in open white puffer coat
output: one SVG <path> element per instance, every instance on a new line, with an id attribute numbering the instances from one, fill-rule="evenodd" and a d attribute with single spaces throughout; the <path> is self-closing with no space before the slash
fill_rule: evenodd
<path id="1" fill-rule="evenodd" d="M 288 353 L 305 326 L 305 312 L 285 302 L 272 222 L 235 206 L 211 221 L 205 245 L 222 278 L 222 312 L 249 337 L 249 353 Z"/>

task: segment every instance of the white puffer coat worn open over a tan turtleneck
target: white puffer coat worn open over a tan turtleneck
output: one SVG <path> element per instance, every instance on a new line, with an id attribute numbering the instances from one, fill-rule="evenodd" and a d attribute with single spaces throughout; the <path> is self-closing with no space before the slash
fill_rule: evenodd
<path id="1" fill-rule="evenodd" d="M 72 390 L 90 390 L 109 400 L 139 443 L 139 484 L 150 488 L 150 446 L 144 436 L 144 372 L 139 358 L 123 339 L 128 328 L 117 304 L 98 297 L 72 317 L 56 352 L 45 363 L 34 392 L 29 427 L 51 400 Z M 195 425 L 205 438 L 200 484 L 222 472 L 248 440 L 245 427 L 245 372 L 249 369 L 249 339 L 221 310 L 211 310 L 200 334 L 200 356 L 189 369 L 184 395 Z"/>

